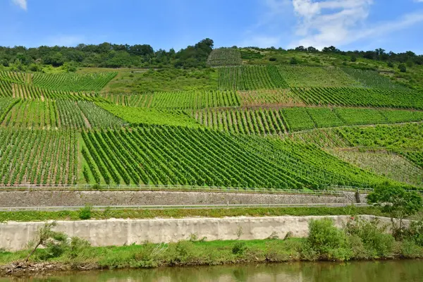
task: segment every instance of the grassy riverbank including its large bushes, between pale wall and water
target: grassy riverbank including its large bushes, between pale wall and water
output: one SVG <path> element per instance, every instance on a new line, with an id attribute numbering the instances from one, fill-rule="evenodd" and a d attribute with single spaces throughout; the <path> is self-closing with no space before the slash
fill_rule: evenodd
<path id="1" fill-rule="evenodd" d="M 37 249 L 27 265 L 50 264 L 53 269 L 122 269 L 157 266 L 219 265 L 293 261 L 349 261 L 355 259 L 422 258 L 423 244 L 417 237 L 395 240 L 377 221 L 355 219 L 344 228 L 330 219 L 309 223 L 307 238 L 266 240 L 216 240 L 192 236 L 190 240 L 169 244 L 142 243 L 121 247 L 91 247 L 84 240 L 48 243 Z M 66 243 L 68 242 L 68 243 Z M 0 252 L 3 274 L 23 262 L 31 249 Z"/>

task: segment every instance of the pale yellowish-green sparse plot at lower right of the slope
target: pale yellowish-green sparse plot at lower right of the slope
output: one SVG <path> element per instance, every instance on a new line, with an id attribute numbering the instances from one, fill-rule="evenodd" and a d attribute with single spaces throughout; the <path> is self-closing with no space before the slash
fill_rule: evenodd
<path id="1" fill-rule="evenodd" d="M 398 154 L 349 150 L 333 150 L 331 153 L 344 161 L 380 176 L 386 176 L 398 182 L 423 186 L 423 169 Z"/>

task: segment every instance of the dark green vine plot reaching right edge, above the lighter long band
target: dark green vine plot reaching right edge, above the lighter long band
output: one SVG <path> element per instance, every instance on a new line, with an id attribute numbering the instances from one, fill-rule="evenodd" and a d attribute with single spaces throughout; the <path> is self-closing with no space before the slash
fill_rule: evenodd
<path id="1" fill-rule="evenodd" d="M 369 106 L 423 109 L 422 94 L 410 90 L 379 90 L 355 87 L 293 87 L 307 105 Z"/>

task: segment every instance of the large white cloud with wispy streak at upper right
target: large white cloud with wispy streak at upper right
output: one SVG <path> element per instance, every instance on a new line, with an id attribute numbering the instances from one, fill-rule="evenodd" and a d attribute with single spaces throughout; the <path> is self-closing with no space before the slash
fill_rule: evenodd
<path id="1" fill-rule="evenodd" d="M 423 0 L 418 0 L 422 1 Z M 297 39 L 290 48 L 342 47 L 360 39 L 380 37 L 423 21 L 423 13 L 410 13 L 386 23 L 369 24 L 373 0 L 293 0 Z"/>

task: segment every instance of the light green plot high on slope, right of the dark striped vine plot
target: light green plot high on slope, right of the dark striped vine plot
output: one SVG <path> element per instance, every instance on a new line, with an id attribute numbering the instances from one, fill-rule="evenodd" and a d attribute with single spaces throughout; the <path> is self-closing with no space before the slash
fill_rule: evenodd
<path id="1" fill-rule="evenodd" d="M 290 87 L 362 87 L 340 68 L 278 66 L 278 71 Z"/>

